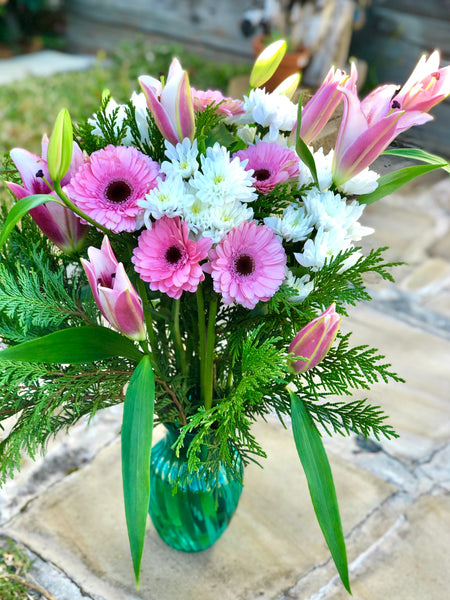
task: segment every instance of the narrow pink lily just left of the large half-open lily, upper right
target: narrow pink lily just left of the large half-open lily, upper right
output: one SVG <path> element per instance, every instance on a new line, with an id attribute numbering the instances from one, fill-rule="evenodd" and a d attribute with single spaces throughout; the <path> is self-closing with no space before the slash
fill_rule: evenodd
<path id="1" fill-rule="evenodd" d="M 338 86 L 353 89 L 357 78 L 358 71 L 354 63 L 350 75 L 331 67 L 320 88 L 302 109 L 300 137 L 306 144 L 310 144 L 319 135 L 342 100 L 342 93 L 338 90 Z M 292 132 L 294 136 L 296 129 L 297 125 Z"/>

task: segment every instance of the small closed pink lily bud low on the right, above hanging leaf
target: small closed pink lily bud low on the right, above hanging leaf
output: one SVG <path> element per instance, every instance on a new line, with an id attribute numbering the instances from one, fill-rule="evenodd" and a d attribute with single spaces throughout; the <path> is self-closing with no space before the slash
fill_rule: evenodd
<path id="1" fill-rule="evenodd" d="M 341 324 L 341 317 L 336 313 L 335 307 L 333 303 L 325 312 L 305 325 L 292 340 L 289 352 L 299 357 L 292 362 L 296 373 L 309 371 L 328 354 Z"/>

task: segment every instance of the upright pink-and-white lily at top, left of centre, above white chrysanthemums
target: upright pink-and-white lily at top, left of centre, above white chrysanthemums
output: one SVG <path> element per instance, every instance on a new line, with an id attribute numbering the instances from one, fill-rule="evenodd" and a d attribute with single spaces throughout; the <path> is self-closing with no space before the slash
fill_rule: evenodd
<path id="1" fill-rule="evenodd" d="M 181 68 L 179 60 L 172 60 L 164 87 L 161 81 L 149 75 L 139 77 L 139 83 L 164 138 L 174 145 L 184 138 L 192 142 L 195 121 L 191 88 L 188 74 Z"/>

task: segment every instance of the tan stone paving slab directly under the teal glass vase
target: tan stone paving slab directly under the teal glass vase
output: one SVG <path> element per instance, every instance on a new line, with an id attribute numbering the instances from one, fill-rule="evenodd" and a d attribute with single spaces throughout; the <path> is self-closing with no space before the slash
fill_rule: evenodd
<path id="1" fill-rule="evenodd" d="M 326 563 L 329 553 L 292 434 L 268 423 L 258 424 L 255 434 L 269 458 L 263 470 L 246 470 L 240 505 L 221 540 L 202 553 L 183 554 L 166 546 L 149 522 L 139 592 L 126 536 L 119 443 L 29 503 L 4 530 L 96 600 L 172 600 L 181 590 L 183 600 L 276 598 L 317 563 Z M 331 456 L 331 464 L 348 533 L 396 488 L 338 456 Z"/>

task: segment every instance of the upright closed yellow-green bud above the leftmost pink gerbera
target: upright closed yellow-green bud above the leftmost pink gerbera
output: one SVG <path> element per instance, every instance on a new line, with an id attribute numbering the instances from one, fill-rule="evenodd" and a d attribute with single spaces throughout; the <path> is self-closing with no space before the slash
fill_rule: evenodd
<path id="1" fill-rule="evenodd" d="M 47 164 L 50 179 L 59 182 L 67 173 L 72 161 L 73 130 L 69 111 L 63 108 L 56 117 L 48 143 Z"/>

